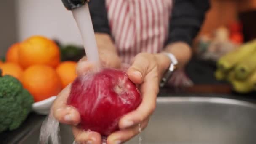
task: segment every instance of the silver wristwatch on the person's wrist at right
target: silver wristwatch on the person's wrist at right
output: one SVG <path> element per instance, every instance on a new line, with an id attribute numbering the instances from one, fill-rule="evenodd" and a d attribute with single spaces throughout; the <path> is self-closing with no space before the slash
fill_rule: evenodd
<path id="1" fill-rule="evenodd" d="M 168 80 L 171 78 L 171 75 L 173 74 L 173 72 L 175 71 L 176 69 L 176 65 L 178 64 L 178 61 L 176 59 L 176 57 L 171 54 L 171 53 L 163 53 L 165 54 L 166 56 L 169 57 L 169 59 L 171 60 L 171 64 L 169 66 L 169 68 L 167 69 L 167 71 L 165 72 L 165 74 L 163 75 L 162 79 L 161 79 L 161 82 L 160 82 L 160 87 L 164 87 L 165 84 L 168 82 Z"/>

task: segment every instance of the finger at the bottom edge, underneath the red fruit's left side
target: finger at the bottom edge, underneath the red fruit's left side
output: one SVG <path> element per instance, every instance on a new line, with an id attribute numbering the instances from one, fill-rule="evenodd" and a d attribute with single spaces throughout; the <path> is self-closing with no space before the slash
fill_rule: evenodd
<path id="1" fill-rule="evenodd" d="M 101 144 L 101 135 L 93 131 L 83 131 L 77 127 L 72 127 L 75 141 L 78 144 Z"/>

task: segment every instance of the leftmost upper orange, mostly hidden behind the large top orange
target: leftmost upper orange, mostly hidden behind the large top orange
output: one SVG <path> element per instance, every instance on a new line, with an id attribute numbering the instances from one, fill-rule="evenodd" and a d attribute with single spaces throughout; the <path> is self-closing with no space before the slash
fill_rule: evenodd
<path id="1" fill-rule="evenodd" d="M 19 56 L 18 56 L 19 46 L 20 46 L 20 43 L 14 43 L 8 48 L 6 53 L 7 62 L 15 62 L 15 63 L 19 62 Z"/>

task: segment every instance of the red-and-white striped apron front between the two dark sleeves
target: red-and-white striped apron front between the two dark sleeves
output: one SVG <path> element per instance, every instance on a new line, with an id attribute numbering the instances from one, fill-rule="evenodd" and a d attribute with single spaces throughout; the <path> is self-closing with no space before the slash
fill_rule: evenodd
<path id="1" fill-rule="evenodd" d="M 129 63 L 141 52 L 158 53 L 168 34 L 172 0 L 106 0 L 119 56 Z"/>

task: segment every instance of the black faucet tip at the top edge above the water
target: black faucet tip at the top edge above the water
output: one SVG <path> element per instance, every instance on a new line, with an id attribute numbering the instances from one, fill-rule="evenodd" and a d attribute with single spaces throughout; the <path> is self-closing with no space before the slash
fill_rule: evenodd
<path id="1" fill-rule="evenodd" d="M 89 2 L 89 0 L 61 0 L 61 1 L 68 10 L 79 8 L 85 5 L 85 3 Z"/>

